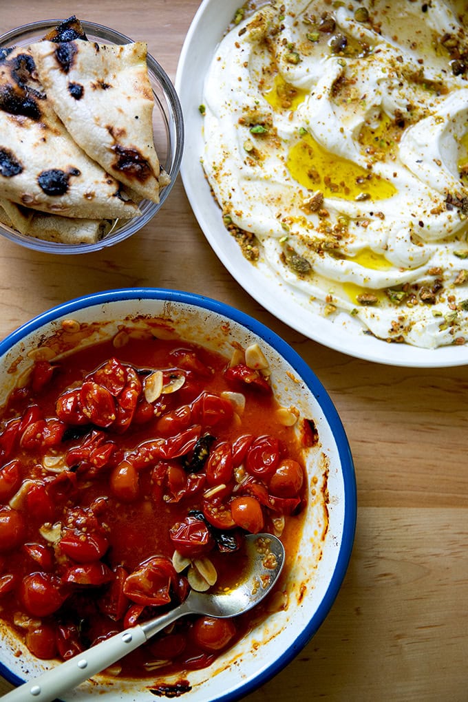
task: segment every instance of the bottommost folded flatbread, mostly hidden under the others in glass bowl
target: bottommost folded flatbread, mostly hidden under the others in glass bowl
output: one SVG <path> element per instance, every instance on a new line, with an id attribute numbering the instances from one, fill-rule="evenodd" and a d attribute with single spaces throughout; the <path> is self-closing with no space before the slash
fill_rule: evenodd
<path id="1" fill-rule="evenodd" d="M 49 215 L 0 199 L 0 222 L 21 234 L 59 244 L 95 244 L 109 232 L 110 220 Z"/>

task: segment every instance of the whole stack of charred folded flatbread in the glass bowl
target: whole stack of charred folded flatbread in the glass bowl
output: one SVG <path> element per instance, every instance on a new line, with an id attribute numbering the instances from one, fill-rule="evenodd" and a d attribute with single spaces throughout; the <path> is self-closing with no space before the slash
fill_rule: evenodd
<path id="1" fill-rule="evenodd" d="M 0 220 L 64 244 L 98 241 L 159 201 L 147 47 L 88 41 L 75 17 L 0 49 Z"/>

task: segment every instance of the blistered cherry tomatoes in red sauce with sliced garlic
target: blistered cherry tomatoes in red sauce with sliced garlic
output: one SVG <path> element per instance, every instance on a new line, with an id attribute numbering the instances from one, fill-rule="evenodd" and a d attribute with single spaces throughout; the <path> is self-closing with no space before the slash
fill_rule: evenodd
<path id="1" fill-rule="evenodd" d="M 36 362 L 0 414 L 1 618 L 67 659 L 182 602 L 200 559 L 235 583 L 246 532 L 279 529 L 293 553 L 305 469 L 277 409 L 267 374 L 180 340 Z M 203 668 L 253 621 L 182 618 L 117 672 Z"/>

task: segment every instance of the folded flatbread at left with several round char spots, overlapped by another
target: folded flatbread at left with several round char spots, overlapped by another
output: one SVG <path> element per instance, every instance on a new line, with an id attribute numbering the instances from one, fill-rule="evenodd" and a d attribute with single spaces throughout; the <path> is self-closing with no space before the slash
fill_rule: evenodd
<path id="1" fill-rule="evenodd" d="M 58 119 L 27 48 L 0 50 L 0 194 L 76 218 L 131 218 L 140 211 L 76 145 Z"/>

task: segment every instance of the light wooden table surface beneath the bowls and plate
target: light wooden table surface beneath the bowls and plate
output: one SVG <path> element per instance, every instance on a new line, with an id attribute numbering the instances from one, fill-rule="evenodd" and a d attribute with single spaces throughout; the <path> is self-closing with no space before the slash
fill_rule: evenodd
<path id="1" fill-rule="evenodd" d="M 147 41 L 175 79 L 199 0 L 0 6 L 1 32 L 72 13 L 112 26 Z M 345 581 L 319 632 L 248 702 L 467 701 L 468 366 L 372 364 L 288 328 L 222 266 L 180 178 L 153 223 L 100 253 L 51 256 L 0 241 L 0 338 L 69 298 L 129 286 L 203 293 L 272 327 L 325 385 L 349 438 L 359 511 Z M 10 687 L 0 680 L 0 694 Z"/>

